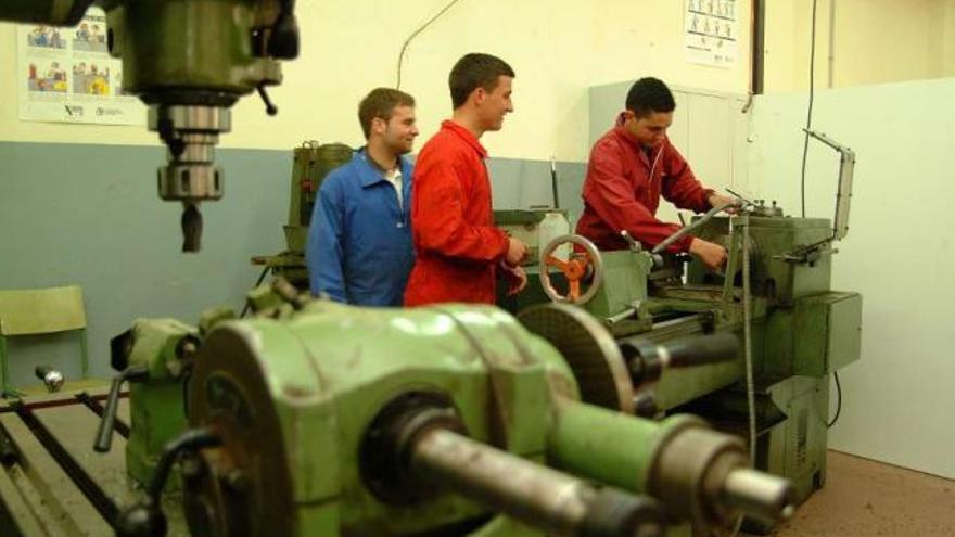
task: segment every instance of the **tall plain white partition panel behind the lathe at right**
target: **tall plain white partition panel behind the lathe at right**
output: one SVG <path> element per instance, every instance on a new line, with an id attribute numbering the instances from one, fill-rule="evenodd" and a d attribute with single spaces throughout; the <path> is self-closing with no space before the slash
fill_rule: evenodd
<path id="1" fill-rule="evenodd" d="M 857 155 L 833 287 L 863 295 L 862 360 L 840 373 L 830 446 L 955 477 L 955 78 L 822 91 L 814 127 Z M 750 177 L 799 214 L 801 93 L 756 98 Z M 811 145 L 808 216 L 831 218 L 835 152 Z"/>

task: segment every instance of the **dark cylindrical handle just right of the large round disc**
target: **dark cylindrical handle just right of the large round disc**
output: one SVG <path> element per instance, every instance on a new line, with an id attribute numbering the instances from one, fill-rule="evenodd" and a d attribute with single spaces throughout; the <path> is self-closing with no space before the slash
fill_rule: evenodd
<path id="1" fill-rule="evenodd" d="M 660 379 L 664 369 L 688 368 L 729 361 L 739 353 L 739 341 L 734 334 L 698 335 L 658 345 L 633 338 L 620 344 L 634 385 Z"/>

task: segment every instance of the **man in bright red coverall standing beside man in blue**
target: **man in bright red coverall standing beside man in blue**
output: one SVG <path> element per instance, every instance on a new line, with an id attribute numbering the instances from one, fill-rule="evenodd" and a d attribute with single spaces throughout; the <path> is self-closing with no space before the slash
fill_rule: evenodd
<path id="1" fill-rule="evenodd" d="M 499 57 L 467 54 L 448 77 L 454 115 L 415 163 L 411 227 L 417 257 L 405 305 L 494 304 L 497 271 L 518 293 L 527 284 L 520 263 L 527 246 L 494 227 L 491 181 L 479 139 L 500 130 L 513 112 L 514 72 Z"/>

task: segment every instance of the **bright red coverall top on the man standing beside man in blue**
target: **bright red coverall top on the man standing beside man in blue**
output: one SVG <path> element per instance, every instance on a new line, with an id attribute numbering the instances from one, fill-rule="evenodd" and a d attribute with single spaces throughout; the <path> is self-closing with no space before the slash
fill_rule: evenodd
<path id="1" fill-rule="evenodd" d="M 508 236 L 494 227 L 487 151 L 454 122 L 424 144 L 415 163 L 411 227 L 417 258 L 405 305 L 495 303 L 495 270 Z"/>

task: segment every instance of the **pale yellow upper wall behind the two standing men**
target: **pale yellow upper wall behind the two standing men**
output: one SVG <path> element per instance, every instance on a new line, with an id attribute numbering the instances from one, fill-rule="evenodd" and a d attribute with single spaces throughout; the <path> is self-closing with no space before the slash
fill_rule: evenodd
<path id="1" fill-rule="evenodd" d="M 447 0 L 301 0 L 302 55 L 271 90 L 279 116 L 257 98 L 237 105 L 222 146 L 286 149 L 304 139 L 359 144 L 355 112 L 375 86 L 394 86 L 404 40 Z M 403 89 L 419 102 L 422 140 L 449 115 L 447 74 L 462 54 L 500 55 L 517 71 L 517 112 L 484 140 L 493 156 L 584 161 L 587 88 L 655 75 L 672 84 L 744 92 L 749 57 L 721 69 L 685 62 L 684 3 L 676 0 L 460 0 L 408 48 Z M 750 2 L 740 5 L 749 27 Z M 749 49 L 744 36 L 740 50 Z M 140 127 L 91 127 L 16 118 L 13 26 L 0 25 L 0 140 L 157 144 Z"/>

